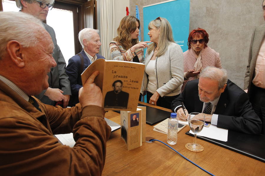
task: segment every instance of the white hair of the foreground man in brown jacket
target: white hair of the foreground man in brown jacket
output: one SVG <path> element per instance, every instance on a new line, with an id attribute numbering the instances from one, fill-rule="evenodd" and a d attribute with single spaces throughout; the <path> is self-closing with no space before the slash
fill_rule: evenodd
<path id="1" fill-rule="evenodd" d="M 23 12 L 0 12 L 0 21 L 0 59 L 9 41 L 16 40 L 23 47 L 35 46 L 38 41 L 36 28 L 44 28 L 38 18 Z"/>

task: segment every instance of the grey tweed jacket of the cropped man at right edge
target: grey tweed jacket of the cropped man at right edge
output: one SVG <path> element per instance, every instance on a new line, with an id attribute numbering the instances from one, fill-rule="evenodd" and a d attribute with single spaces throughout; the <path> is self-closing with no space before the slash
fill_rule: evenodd
<path id="1" fill-rule="evenodd" d="M 252 34 L 250 48 L 249 48 L 249 63 L 247 65 L 247 71 L 245 74 L 245 84 L 244 84 L 244 89 L 249 89 L 248 94 L 250 93 L 251 90 L 251 82 L 252 79 L 254 78 L 256 60 L 264 36 L 265 36 L 265 24 L 256 27 L 256 29 Z"/>

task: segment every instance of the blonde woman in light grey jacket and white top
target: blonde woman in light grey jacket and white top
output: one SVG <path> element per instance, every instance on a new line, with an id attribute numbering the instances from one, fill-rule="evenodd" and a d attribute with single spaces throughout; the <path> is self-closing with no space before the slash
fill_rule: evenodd
<path id="1" fill-rule="evenodd" d="M 149 23 L 150 41 L 145 54 L 145 73 L 141 93 L 147 102 L 170 109 L 183 83 L 183 52 L 175 43 L 167 19 L 158 17 Z"/>

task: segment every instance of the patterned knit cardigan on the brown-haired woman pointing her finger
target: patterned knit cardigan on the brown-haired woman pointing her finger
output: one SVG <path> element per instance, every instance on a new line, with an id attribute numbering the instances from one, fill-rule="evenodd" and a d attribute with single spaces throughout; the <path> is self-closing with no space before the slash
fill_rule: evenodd
<path id="1" fill-rule="evenodd" d="M 125 50 L 122 45 L 116 41 L 110 42 L 110 55 L 112 60 L 124 60 L 131 61 L 132 58 L 136 55 L 141 63 L 145 63 L 145 56 L 143 54 L 143 48 L 136 49 L 135 52 L 132 52 L 131 48 L 129 50 Z"/>

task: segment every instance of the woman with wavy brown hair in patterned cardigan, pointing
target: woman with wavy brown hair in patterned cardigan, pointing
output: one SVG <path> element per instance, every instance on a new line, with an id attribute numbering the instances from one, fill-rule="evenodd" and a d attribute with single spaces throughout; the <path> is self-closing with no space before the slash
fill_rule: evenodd
<path id="1" fill-rule="evenodd" d="M 140 21 L 134 16 L 125 16 L 117 29 L 118 36 L 110 42 L 112 60 L 124 60 L 145 63 L 143 48 L 147 43 L 138 40 Z"/>

